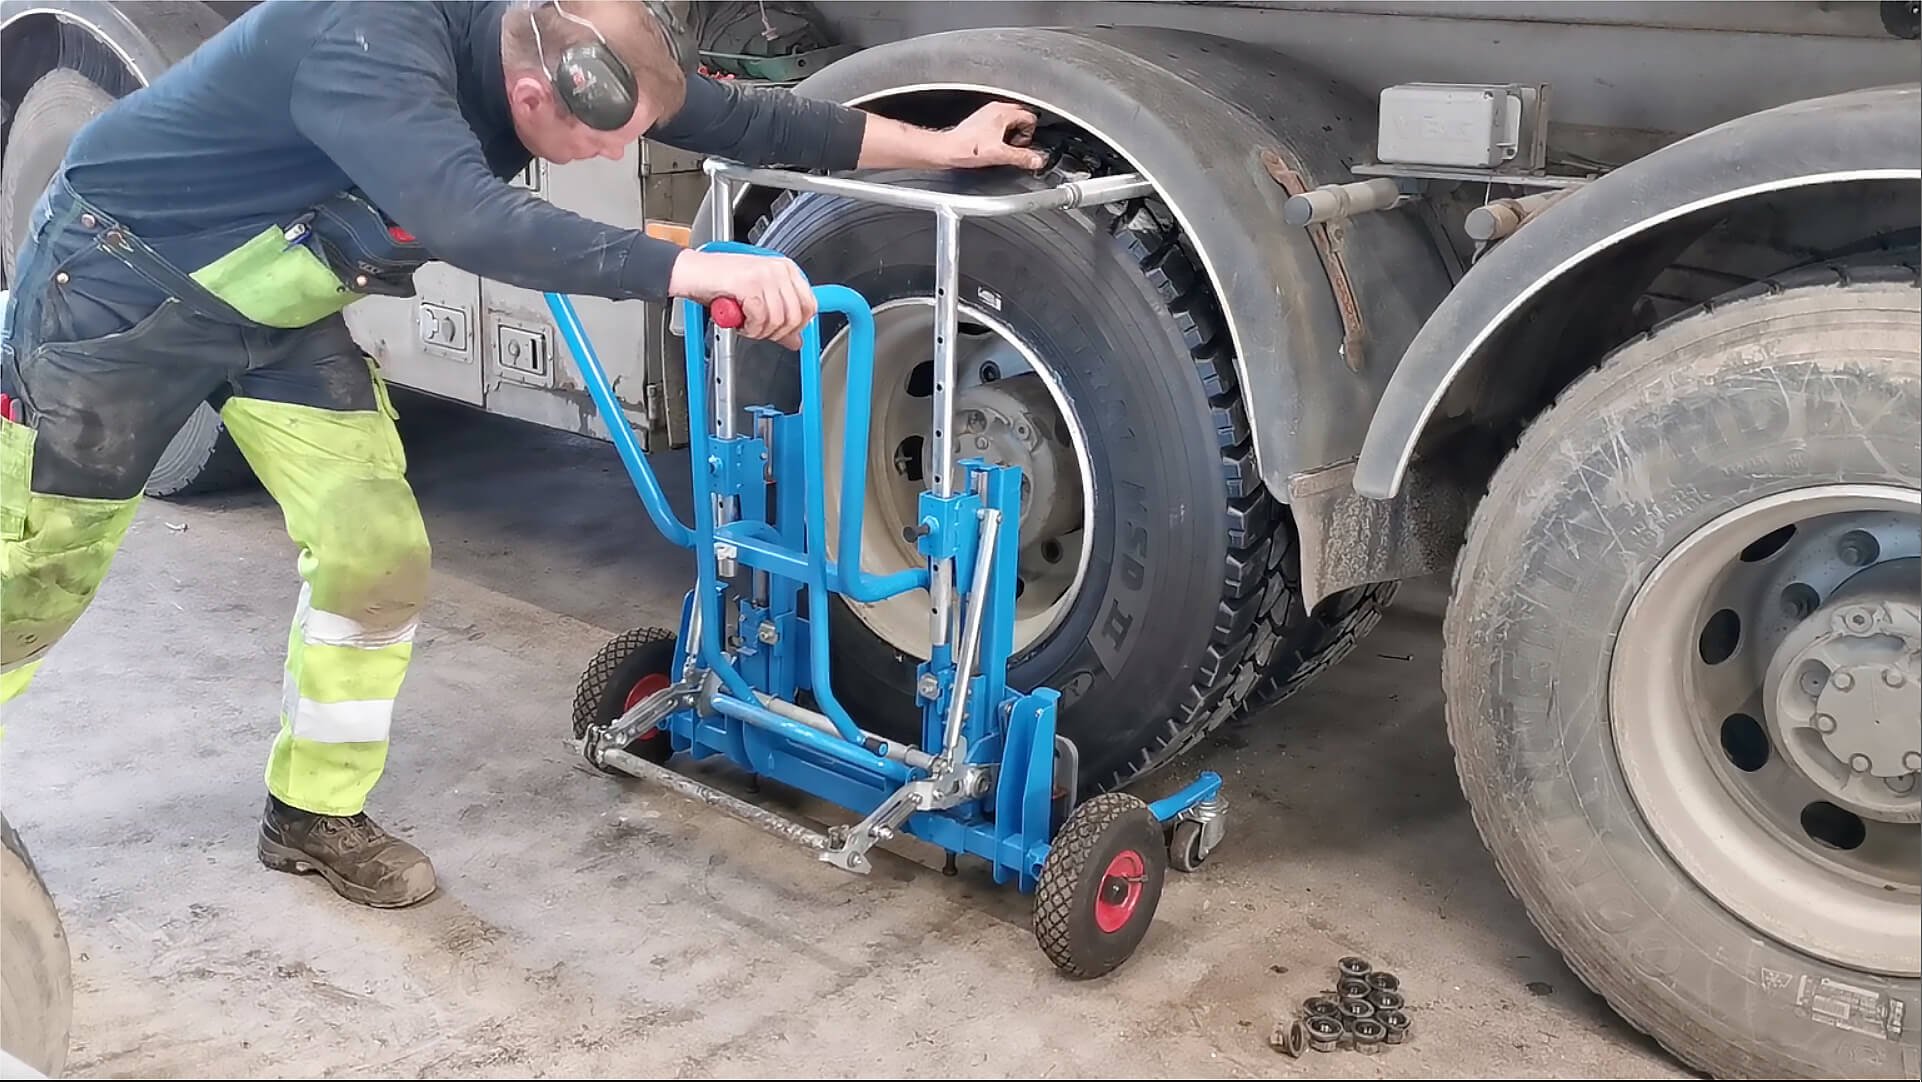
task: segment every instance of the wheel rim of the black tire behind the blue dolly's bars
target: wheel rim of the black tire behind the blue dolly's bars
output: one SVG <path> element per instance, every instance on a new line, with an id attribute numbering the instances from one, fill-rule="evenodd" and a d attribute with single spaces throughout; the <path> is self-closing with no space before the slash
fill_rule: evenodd
<path id="1" fill-rule="evenodd" d="M 1094 534 L 1094 469 L 1088 438 L 1040 356 L 994 313 L 959 306 L 955 344 L 955 459 L 1019 465 L 1023 475 L 1015 642 L 1021 652 L 1047 638 L 1080 596 Z M 869 423 L 867 502 L 861 567 L 890 575 L 923 567 L 903 530 L 919 521 L 932 463 L 934 302 L 894 300 L 875 307 L 875 394 Z M 821 350 L 826 452 L 826 536 L 838 557 L 842 430 L 846 427 L 848 336 Z M 928 592 L 911 590 L 848 607 L 894 650 L 928 657 Z"/>

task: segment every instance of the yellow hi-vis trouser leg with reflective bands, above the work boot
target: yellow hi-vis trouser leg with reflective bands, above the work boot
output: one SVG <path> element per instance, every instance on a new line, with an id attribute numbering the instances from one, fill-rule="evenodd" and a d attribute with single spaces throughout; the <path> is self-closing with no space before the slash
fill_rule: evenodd
<path id="1" fill-rule="evenodd" d="M 300 546 L 267 790 L 294 807 L 354 815 L 386 767 L 427 596 L 427 529 L 390 407 L 384 394 L 379 409 L 231 398 L 221 419 Z"/>

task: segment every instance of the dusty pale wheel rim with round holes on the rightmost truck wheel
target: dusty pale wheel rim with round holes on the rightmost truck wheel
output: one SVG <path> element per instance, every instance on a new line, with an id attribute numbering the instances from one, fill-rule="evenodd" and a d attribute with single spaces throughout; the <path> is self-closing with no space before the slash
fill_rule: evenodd
<path id="1" fill-rule="evenodd" d="M 1922 972 L 1918 507 L 1834 484 L 1714 519 L 1641 584 L 1611 673 L 1668 855 L 1757 930 L 1899 976 Z"/>

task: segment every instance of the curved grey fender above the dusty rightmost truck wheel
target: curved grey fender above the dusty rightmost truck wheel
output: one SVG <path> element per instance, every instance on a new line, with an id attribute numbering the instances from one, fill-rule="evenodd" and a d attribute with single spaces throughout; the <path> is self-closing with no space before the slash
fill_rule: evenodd
<path id="1" fill-rule="evenodd" d="M 1557 279 L 1668 221 L 1812 184 L 1922 179 L 1922 86 L 1880 86 L 1749 113 L 1584 186 L 1490 250 L 1401 356 L 1368 425 L 1355 490 L 1399 494 L 1449 384 Z"/>

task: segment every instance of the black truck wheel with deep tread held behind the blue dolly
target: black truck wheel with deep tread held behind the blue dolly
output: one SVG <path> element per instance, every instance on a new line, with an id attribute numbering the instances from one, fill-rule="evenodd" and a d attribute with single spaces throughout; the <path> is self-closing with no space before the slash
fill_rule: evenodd
<path id="1" fill-rule="evenodd" d="M 938 183 L 1053 184 L 1086 173 L 1084 154 L 1069 146 L 1044 177 Z M 932 215 L 784 194 L 752 236 L 792 256 L 809 281 L 846 284 L 876 309 L 863 553 L 873 571 L 909 567 L 917 557 L 901 527 L 913 525 L 932 406 Z M 971 411 L 986 417 L 965 432 L 980 442 L 957 457 L 1019 461 L 1032 482 L 1026 609 L 1009 680 L 1061 692 L 1057 730 L 1076 744 L 1084 790 L 1151 773 L 1234 717 L 1263 678 L 1324 667 L 1353 646 L 1374 605 L 1342 596 L 1320 607 L 1338 613 L 1334 625 L 1309 617 L 1297 575 L 1280 571 L 1294 527 L 1255 469 L 1207 275 L 1157 202 L 969 221 L 957 300 L 957 425 Z M 830 448 L 840 440 L 838 327 L 836 317 L 823 327 Z M 744 340 L 736 373 L 738 406 L 798 406 L 792 352 Z M 1040 450 L 1009 452 L 1009 432 Z M 926 594 L 875 607 L 836 600 L 832 613 L 836 696 L 876 732 L 919 740 Z"/>

